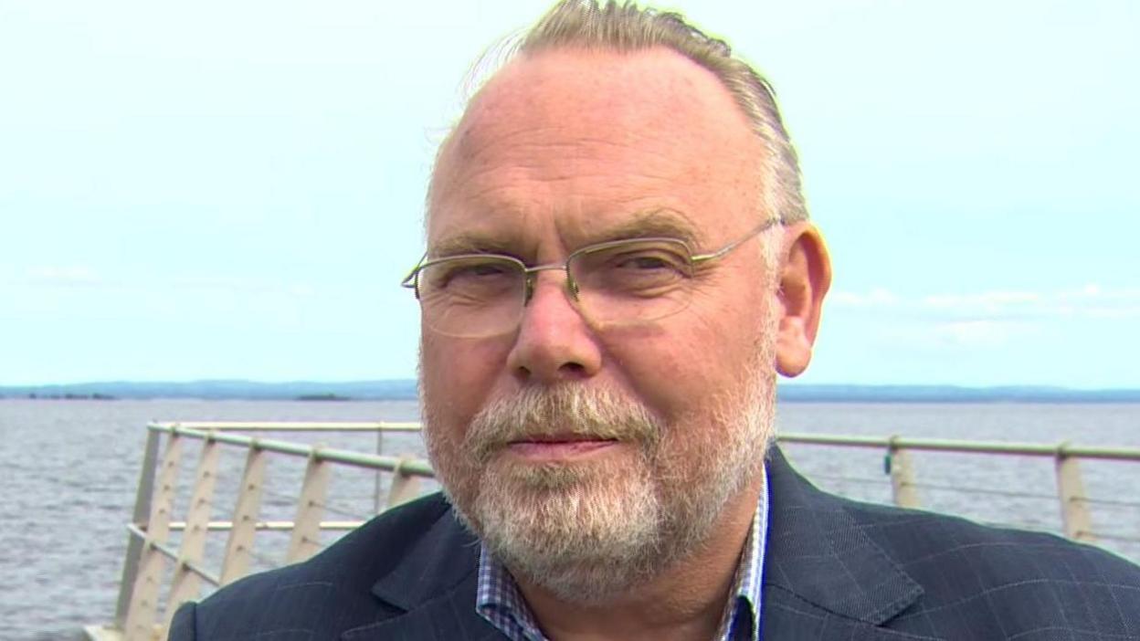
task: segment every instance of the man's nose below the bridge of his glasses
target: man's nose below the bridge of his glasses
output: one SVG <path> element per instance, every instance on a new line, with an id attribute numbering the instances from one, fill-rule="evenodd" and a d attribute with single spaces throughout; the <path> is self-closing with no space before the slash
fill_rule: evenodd
<path id="1" fill-rule="evenodd" d="M 555 383 L 593 376 L 601 365 L 597 336 L 573 301 L 565 273 L 536 274 L 507 366 L 523 381 Z"/>

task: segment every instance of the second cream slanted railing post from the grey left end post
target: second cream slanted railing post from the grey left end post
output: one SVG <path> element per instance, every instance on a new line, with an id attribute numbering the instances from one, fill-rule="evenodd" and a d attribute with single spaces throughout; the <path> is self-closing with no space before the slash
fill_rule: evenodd
<path id="1" fill-rule="evenodd" d="M 211 435 L 212 436 L 212 435 Z M 170 597 L 166 599 L 166 625 L 185 601 L 197 598 L 201 577 L 186 566 L 187 562 L 198 563 L 206 549 L 206 534 L 210 530 L 210 512 L 213 502 L 214 486 L 218 480 L 218 457 L 221 444 L 206 437 L 202 444 L 202 459 L 195 474 L 194 492 L 186 516 L 186 530 L 182 533 L 182 544 L 178 551 L 178 563 L 174 566 L 174 577 L 170 583 Z"/>

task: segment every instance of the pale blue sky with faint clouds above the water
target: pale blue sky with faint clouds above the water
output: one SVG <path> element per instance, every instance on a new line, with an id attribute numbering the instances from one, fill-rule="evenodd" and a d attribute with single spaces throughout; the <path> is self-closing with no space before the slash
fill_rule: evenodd
<path id="1" fill-rule="evenodd" d="M 435 146 L 546 6 L 0 0 L 0 384 L 415 376 Z M 776 88 L 798 381 L 1140 388 L 1140 3 L 658 6 Z"/>

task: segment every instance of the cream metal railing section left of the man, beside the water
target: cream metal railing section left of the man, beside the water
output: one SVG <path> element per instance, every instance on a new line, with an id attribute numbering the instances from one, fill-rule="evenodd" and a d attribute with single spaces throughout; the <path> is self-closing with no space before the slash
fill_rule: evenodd
<path id="1" fill-rule="evenodd" d="M 284 562 L 307 559 L 320 550 L 321 530 L 347 530 L 361 520 L 321 520 L 327 509 L 325 493 L 328 488 L 331 465 L 388 472 L 392 476 L 386 500 L 381 498 L 381 478 L 377 473 L 374 492 L 374 512 L 414 498 L 418 493 L 417 480 L 432 478 L 426 461 L 407 456 L 385 456 L 381 453 L 385 432 L 417 432 L 418 423 L 407 422 L 181 422 L 147 425 L 147 441 L 142 470 L 136 494 L 132 522 L 128 525 L 127 558 L 123 563 L 120 594 L 111 626 L 88 627 L 92 639 L 127 639 L 129 641 L 162 639 L 177 606 L 196 599 L 201 582 L 218 587 L 241 578 L 250 571 L 255 552 L 254 533 L 276 530 L 290 533 L 290 544 Z M 372 432 L 376 435 L 376 454 L 303 445 L 286 440 L 258 438 L 244 432 Z M 165 437 L 165 446 L 161 440 Z M 201 440 L 202 452 L 194 474 L 187 516 L 173 520 L 184 443 Z M 236 505 L 229 521 L 211 520 L 212 497 L 219 476 L 220 451 L 223 446 L 247 451 Z M 160 456 L 160 447 L 162 447 Z M 306 460 L 306 471 L 298 494 L 295 517 L 291 521 L 262 521 L 260 510 L 266 490 L 266 468 L 270 455 Z M 221 570 L 203 563 L 209 532 L 228 532 Z M 169 544 L 171 533 L 181 533 L 178 549 Z M 160 598 L 168 563 L 173 562 L 173 574 L 166 592 L 165 616 L 158 623 Z"/>

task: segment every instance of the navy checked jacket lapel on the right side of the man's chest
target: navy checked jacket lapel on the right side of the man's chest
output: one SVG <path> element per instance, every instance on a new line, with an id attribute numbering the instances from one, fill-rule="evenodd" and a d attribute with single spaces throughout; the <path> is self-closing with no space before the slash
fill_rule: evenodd
<path id="1" fill-rule="evenodd" d="M 777 447 L 767 461 L 762 619 L 767 639 L 914 639 L 882 624 L 922 589 L 858 527 L 840 498 L 800 477 Z"/>

